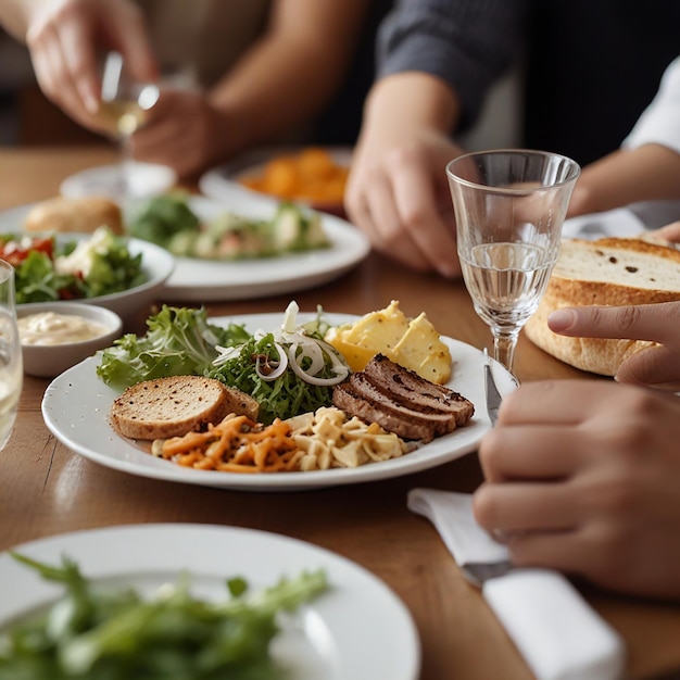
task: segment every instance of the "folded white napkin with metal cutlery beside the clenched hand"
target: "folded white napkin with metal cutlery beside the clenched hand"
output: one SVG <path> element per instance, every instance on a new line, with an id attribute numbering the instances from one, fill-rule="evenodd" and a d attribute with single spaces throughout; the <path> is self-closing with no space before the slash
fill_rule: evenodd
<path id="1" fill-rule="evenodd" d="M 561 574 L 513 567 L 507 547 L 475 520 L 470 494 L 413 489 L 408 508 L 437 527 L 538 680 L 622 678 L 626 647 L 618 633 Z"/>

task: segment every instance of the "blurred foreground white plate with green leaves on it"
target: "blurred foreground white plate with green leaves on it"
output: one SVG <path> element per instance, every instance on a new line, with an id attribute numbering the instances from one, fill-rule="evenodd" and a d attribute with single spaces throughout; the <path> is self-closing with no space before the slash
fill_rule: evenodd
<path id="1" fill-rule="evenodd" d="M 402 602 L 358 565 L 302 541 L 164 524 L 55 536 L 13 552 L 33 566 L 0 554 L 0 578 L 12 583 L 0 602 L 0 640 L 11 628 L 15 644 L 23 643 L 18 658 L 11 643 L 0 644 L 7 677 L 24 677 L 22 664 L 36 660 L 46 669 L 41 677 L 62 677 L 49 640 L 60 642 L 61 664 L 89 678 L 103 677 L 103 666 L 105 677 L 123 677 L 114 673 L 122 665 L 125 677 L 166 678 L 162 664 L 171 651 L 173 667 L 181 664 L 185 677 L 197 679 L 235 671 L 236 660 L 243 672 L 273 680 L 418 675 L 417 632 Z M 41 578 L 40 565 L 55 567 L 56 582 Z M 72 600 L 60 605 L 63 590 Z M 74 603 L 77 619 L 66 606 Z M 100 622 L 88 617 L 92 609 Z M 40 616 L 50 613 L 48 639 L 36 644 L 45 630 Z M 23 628 L 28 621 L 33 634 Z M 217 653 L 225 647 L 226 658 Z"/>

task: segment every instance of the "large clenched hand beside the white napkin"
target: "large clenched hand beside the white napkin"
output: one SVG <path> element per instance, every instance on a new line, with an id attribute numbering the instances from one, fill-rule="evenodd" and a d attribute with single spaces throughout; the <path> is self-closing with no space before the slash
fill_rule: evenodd
<path id="1" fill-rule="evenodd" d="M 512 559 L 680 597 L 680 400 L 605 381 L 525 383 L 479 455 L 475 515 Z"/>

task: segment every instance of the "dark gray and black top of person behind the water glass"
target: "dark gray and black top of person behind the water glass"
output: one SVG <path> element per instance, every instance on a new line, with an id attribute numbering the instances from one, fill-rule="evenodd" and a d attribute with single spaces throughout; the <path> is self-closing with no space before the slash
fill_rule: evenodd
<path id="1" fill-rule="evenodd" d="M 582 164 L 619 147 L 679 52 L 673 0 L 396 0 L 377 43 L 378 77 L 421 71 L 451 85 L 455 131 L 522 60 L 525 143 Z"/>

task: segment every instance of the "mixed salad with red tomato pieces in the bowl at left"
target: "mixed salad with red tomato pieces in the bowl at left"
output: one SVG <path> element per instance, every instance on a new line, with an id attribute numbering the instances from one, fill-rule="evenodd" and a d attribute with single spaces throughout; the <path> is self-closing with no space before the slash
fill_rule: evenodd
<path id="1" fill-rule="evenodd" d="M 81 241 L 0 235 L 0 257 L 14 266 L 16 302 L 78 300 L 117 293 L 147 280 L 142 255 L 100 227 Z"/>

